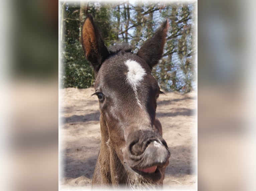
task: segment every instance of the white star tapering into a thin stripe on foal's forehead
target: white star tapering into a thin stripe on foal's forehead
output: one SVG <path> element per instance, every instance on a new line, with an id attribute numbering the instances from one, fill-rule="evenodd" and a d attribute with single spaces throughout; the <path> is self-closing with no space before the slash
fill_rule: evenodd
<path id="1" fill-rule="evenodd" d="M 140 82 L 143 80 L 143 76 L 146 74 L 145 70 L 140 66 L 139 63 L 133 60 L 127 60 L 125 62 L 126 66 L 128 67 L 128 73 L 126 76 L 126 80 L 132 86 L 133 91 L 135 92 L 136 100 L 139 106 L 142 108 L 141 102 L 138 98 L 137 87 L 139 86 Z"/>

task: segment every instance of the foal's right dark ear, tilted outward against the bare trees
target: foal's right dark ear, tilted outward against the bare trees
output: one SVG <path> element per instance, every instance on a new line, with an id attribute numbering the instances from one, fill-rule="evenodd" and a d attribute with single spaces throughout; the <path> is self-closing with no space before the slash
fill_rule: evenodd
<path id="1" fill-rule="evenodd" d="M 162 58 L 168 27 L 169 24 L 166 20 L 156 31 L 154 36 L 151 39 L 148 39 L 137 53 L 137 56 L 144 59 L 151 70 Z"/>

